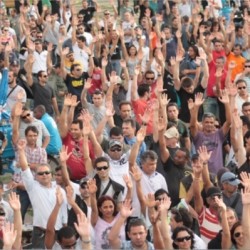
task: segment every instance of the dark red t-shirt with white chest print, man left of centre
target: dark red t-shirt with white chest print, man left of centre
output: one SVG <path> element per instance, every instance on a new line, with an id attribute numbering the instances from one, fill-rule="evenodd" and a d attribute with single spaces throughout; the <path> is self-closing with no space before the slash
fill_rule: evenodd
<path id="1" fill-rule="evenodd" d="M 71 156 L 67 160 L 67 166 L 71 171 L 72 180 L 80 180 L 86 176 L 86 169 L 83 159 L 83 139 L 75 141 L 71 134 L 68 133 L 65 138 L 62 139 L 63 145 L 68 147 L 68 152 L 72 152 Z M 94 150 L 92 144 L 89 142 L 89 156 L 93 160 Z"/>

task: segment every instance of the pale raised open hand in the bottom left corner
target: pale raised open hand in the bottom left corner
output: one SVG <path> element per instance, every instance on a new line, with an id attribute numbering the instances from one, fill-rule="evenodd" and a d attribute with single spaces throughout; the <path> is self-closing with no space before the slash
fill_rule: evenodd
<path id="1" fill-rule="evenodd" d="M 6 222 L 2 227 L 2 233 L 3 233 L 3 249 L 12 249 L 12 246 L 17 236 L 17 230 L 15 230 L 14 224 Z"/>

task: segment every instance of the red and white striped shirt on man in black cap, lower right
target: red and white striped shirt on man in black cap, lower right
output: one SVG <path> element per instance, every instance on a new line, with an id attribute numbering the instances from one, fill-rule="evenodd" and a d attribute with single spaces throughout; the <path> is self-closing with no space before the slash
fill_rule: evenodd
<path id="1" fill-rule="evenodd" d="M 208 244 L 208 242 L 215 238 L 217 233 L 221 230 L 218 217 L 213 214 L 209 208 L 203 206 L 198 219 L 201 238 Z"/>

